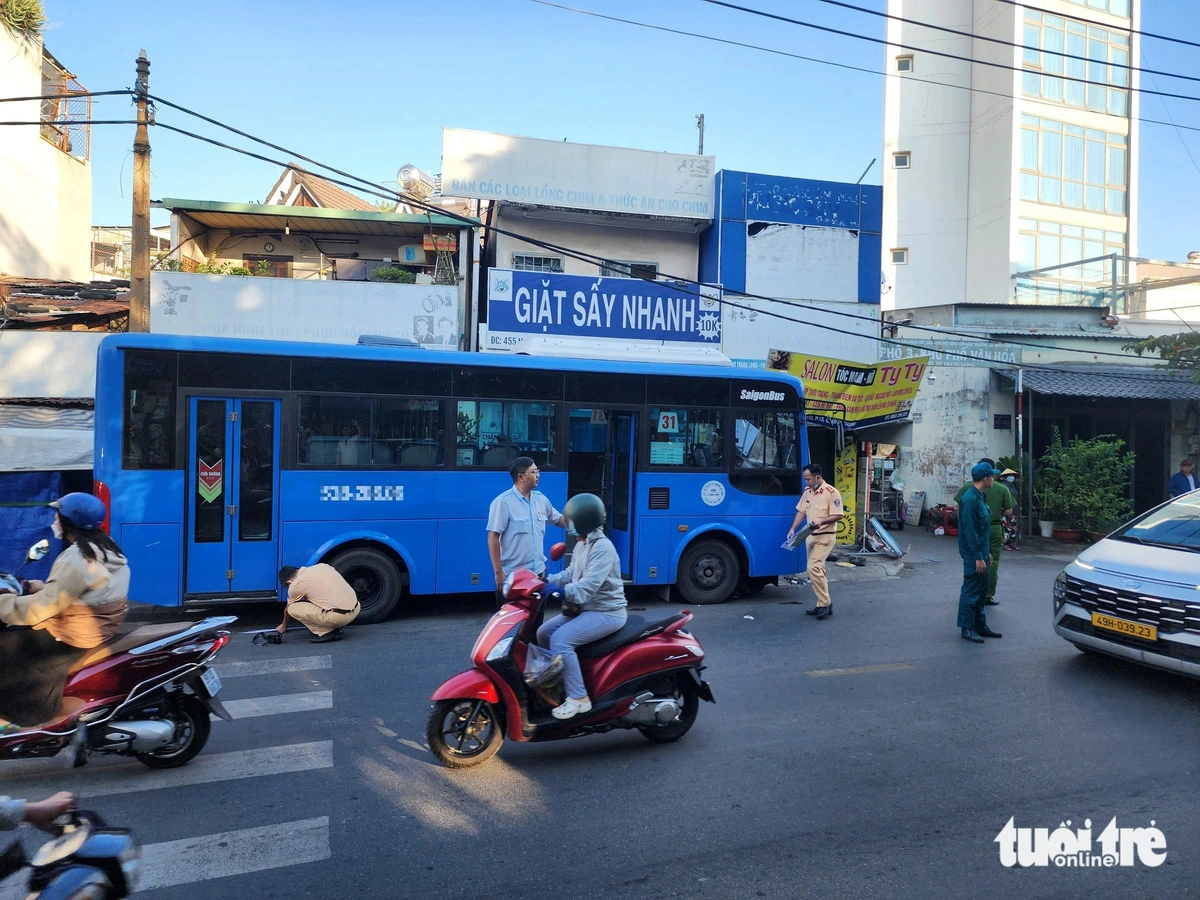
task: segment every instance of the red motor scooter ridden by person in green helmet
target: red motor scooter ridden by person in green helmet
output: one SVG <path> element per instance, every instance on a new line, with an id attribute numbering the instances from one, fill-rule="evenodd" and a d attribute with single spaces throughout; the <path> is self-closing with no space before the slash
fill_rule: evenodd
<path id="1" fill-rule="evenodd" d="M 556 547 L 557 550 L 557 547 Z M 526 684 L 526 653 L 536 641 L 535 623 L 545 582 L 527 569 L 509 575 L 506 602 L 484 626 L 470 652 L 473 668 L 433 694 L 425 737 L 430 750 L 451 768 L 490 760 L 512 740 L 558 740 L 637 728 L 655 743 L 678 740 L 696 721 L 700 701 L 713 691 L 700 673 L 704 649 L 684 630 L 686 610 L 658 617 L 630 616 L 625 625 L 577 649 L 592 710 L 556 719 L 550 697 Z"/>

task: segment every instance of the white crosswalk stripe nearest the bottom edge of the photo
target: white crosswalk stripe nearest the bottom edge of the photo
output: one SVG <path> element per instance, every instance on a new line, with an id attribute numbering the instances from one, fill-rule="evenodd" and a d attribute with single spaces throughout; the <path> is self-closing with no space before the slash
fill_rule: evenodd
<path id="1" fill-rule="evenodd" d="M 205 834 L 142 848 L 138 890 L 329 859 L 329 816 Z"/>

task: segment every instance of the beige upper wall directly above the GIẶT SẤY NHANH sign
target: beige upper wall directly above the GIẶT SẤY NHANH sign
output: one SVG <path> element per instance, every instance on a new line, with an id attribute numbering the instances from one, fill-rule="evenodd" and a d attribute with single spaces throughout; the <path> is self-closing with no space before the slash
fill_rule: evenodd
<path id="1" fill-rule="evenodd" d="M 563 247 L 593 253 L 605 259 L 629 259 L 640 263 L 658 263 L 664 275 L 695 278 L 698 271 L 698 238 L 695 232 L 668 232 L 647 228 L 636 218 L 593 216 L 586 222 L 560 222 L 538 217 L 536 210 L 502 206 L 497 227 L 520 232 L 535 240 L 544 240 Z M 544 215 L 544 214 L 541 214 Z M 697 228 L 700 223 L 697 223 Z M 503 234 L 496 235 L 496 266 L 512 268 L 512 253 L 559 256 L 526 241 Z M 564 257 L 566 275 L 598 275 L 600 266 L 574 257 Z"/>

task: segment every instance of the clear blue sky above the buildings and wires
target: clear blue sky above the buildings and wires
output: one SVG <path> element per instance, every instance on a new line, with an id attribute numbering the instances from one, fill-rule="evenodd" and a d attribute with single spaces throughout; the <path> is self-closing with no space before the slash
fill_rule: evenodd
<path id="1" fill-rule="evenodd" d="M 854 0 L 884 8 L 883 0 Z M 722 10 L 701 0 L 565 5 L 881 70 L 883 47 Z M 752 0 L 882 36 L 877 17 L 816 0 Z M 160 96 L 376 181 L 408 162 L 440 167 L 442 126 L 618 146 L 704 152 L 718 166 L 854 181 L 882 150 L 883 77 L 602 22 L 529 0 L 251 0 L 95 4 L 46 0 L 50 52 L 91 90 L 127 88 L 144 48 Z M 1145 0 L 1142 28 L 1200 41 L 1200 4 Z M 1146 65 L 1200 77 L 1196 50 L 1146 41 Z M 1190 56 L 1190 58 L 1189 58 Z M 1156 86 L 1148 78 L 1144 86 Z M 1200 83 L 1158 78 L 1200 96 Z M 1200 103 L 1144 97 L 1145 118 L 1200 127 Z M 125 97 L 94 118 L 126 118 Z M 161 108 L 158 118 L 220 132 Z M 1142 126 L 1141 256 L 1200 250 L 1200 131 Z M 228 137 L 228 136 L 226 136 Z M 132 126 L 92 132 L 92 220 L 130 221 Z M 1195 162 L 1188 158 L 1184 142 Z M 151 131 L 151 196 L 262 202 L 274 166 Z M 230 143 L 241 143 L 233 139 Z M 266 155 L 276 155 L 265 151 Z M 880 182 L 878 163 L 865 181 Z M 156 214 L 156 223 L 164 221 Z"/>

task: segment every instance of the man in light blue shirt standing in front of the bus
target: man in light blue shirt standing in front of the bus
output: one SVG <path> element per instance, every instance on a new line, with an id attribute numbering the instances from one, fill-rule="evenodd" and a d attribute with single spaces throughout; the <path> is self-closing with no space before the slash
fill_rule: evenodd
<path id="1" fill-rule="evenodd" d="M 541 472 L 528 456 L 518 456 L 509 466 L 512 490 L 505 491 L 487 511 L 487 552 L 496 571 L 497 608 L 504 604 L 500 587 L 515 569 L 546 574 L 546 523 L 566 526 L 563 514 L 538 490 Z"/>

